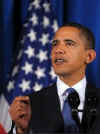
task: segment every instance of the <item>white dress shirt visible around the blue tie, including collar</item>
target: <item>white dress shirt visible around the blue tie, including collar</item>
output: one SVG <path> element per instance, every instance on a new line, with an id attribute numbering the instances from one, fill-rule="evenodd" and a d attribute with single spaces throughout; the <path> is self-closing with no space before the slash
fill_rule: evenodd
<path id="1" fill-rule="evenodd" d="M 64 104 L 63 93 L 68 88 L 74 88 L 76 90 L 80 98 L 80 104 L 78 106 L 78 109 L 83 109 L 84 102 L 85 102 L 86 77 L 84 77 L 82 80 L 80 80 L 78 83 L 76 83 L 72 87 L 69 87 L 67 84 L 65 84 L 62 80 L 59 79 L 59 77 L 57 78 L 57 93 L 58 93 L 59 100 L 60 100 L 61 111 L 63 109 L 63 104 Z M 79 112 L 78 114 L 79 114 L 79 118 L 81 121 L 82 112 Z"/>

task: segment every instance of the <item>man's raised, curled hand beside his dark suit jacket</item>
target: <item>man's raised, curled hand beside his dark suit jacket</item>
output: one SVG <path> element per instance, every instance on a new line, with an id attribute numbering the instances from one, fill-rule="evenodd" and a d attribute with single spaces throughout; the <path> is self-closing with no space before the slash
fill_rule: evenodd
<path id="1" fill-rule="evenodd" d="M 16 97 L 10 106 L 9 113 L 12 120 L 15 122 L 17 133 L 24 134 L 29 127 L 31 118 L 31 106 L 29 97 Z"/>

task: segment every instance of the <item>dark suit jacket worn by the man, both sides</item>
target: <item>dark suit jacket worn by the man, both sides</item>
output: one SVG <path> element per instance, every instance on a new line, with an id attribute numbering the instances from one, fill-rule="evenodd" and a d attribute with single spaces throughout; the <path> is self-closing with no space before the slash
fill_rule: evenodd
<path id="1" fill-rule="evenodd" d="M 32 118 L 29 127 L 35 133 L 63 133 L 56 84 L 30 95 Z M 100 89 L 87 84 L 80 134 L 100 134 Z M 74 133 L 76 134 L 76 133 Z"/>

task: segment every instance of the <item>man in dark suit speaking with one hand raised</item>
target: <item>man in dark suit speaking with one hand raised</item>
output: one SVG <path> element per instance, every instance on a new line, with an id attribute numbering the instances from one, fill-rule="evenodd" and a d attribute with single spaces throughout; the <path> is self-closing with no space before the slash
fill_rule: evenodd
<path id="1" fill-rule="evenodd" d="M 78 133 L 99 134 L 100 91 L 85 76 L 87 64 L 96 57 L 94 44 L 91 31 L 80 24 L 69 23 L 59 28 L 51 52 L 57 83 L 15 98 L 9 112 L 17 134 L 64 133 L 63 94 L 68 88 L 74 88 L 79 95 L 80 104 L 74 109 L 79 118 Z"/>

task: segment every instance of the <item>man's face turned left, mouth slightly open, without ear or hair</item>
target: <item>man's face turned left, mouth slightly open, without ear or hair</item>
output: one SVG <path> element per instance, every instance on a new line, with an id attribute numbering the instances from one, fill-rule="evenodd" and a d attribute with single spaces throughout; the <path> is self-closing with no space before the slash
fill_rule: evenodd
<path id="1" fill-rule="evenodd" d="M 62 27 L 52 43 L 52 65 L 57 75 L 80 75 L 86 68 L 86 42 L 74 27 Z"/>

